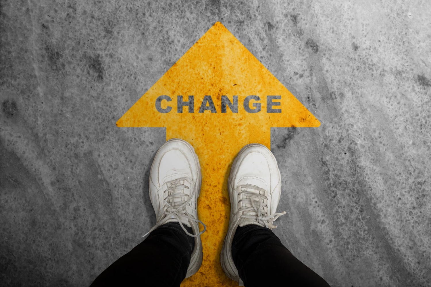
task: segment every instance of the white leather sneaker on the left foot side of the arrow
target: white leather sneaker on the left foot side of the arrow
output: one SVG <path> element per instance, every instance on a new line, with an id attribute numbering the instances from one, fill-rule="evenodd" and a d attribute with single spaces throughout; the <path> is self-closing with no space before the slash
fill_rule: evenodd
<path id="1" fill-rule="evenodd" d="M 188 142 L 170 139 L 159 148 L 150 171 L 150 199 L 157 223 L 146 235 L 162 224 L 178 222 L 187 235 L 195 238 L 186 278 L 194 275 L 202 265 L 200 235 L 205 232 L 206 225 L 197 219 L 201 183 L 199 160 Z M 199 223 L 204 227 L 200 232 Z M 193 234 L 184 225 L 191 227 Z"/>

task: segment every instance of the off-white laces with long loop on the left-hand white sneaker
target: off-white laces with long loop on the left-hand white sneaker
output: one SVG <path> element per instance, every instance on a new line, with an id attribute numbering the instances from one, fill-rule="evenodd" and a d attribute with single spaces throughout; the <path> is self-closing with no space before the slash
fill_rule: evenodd
<path id="1" fill-rule="evenodd" d="M 169 188 L 166 189 L 167 194 L 170 194 L 168 196 L 166 196 L 166 198 L 164 199 L 164 205 L 163 205 L 163 213 L 166 214 L 165 217 L 160 220 L 159 222 L 156 223 L 156 225 L 154 225 L 150 231 L 148 231 L 144 236 L 147 236 L 148 234 L 150 234 L 151 231 L 153 231 L 154 229 L 156 229 L 157 227 L 159 227 L 160 225 L 162 225 L 163 223 L 165 223 L 166 221 L 168 221 L 169 219 L 175 218 L 177 219 L 178 223 L 181 225 L 181 228 L 183 228 L 184 232 L 191 236 L 191 237 L 198 237 L 200 236 L 203 232 L 206 231 L 206 225 L 200 221 L 199 219 L 195 219 L 193 217 L 191 217 L 187 211 L 186 211 L 186 206 L 189 204 L 189 201 L 191 198 L 193 198 L 194 196 L 194 188 L 193 191 L 190 195 L 185 194 L 184 192 L 181 192 L 182 190 L 184 190 L 184 188 L 189 188 L 187 185 L 185 185 L 185 182 L 190 182 L 191 185 L 193 185 L 193 182 L 191 182 L 190 179 L 188 179 L 187 177 L 182 177 L 179 179 L 174 179 L 168 182 L 165 182 L 162 186 L 164 186 L 165 184 L 169 186 Z M 181 183 L 184 182 L 184 183 Z M 160 188 L 158 190 L 158 192 L 162 192 L 162 188 Z M 184 198 L 188 197 L 187 200 L 176 200 L 177 198 Z M 200 231 L 197 235 L 194 234 L 190 234 L 187 229 L 184 227 L 183 223 L 181 222 L 179 216 L 182 217 L 186 217 L 188 220 L 191 221 L 196 221 L 198 222 L 198 226 L 199 223 L 203 225 L 203 231 Z"/>

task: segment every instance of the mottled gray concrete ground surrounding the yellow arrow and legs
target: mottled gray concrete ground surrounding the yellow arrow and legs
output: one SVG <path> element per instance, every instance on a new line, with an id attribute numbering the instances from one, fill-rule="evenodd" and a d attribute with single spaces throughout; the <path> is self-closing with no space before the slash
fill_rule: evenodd
<path id="1" fill-rule="evenodd" d="M 431 286 L 427 1 L 0 1 L 0 285 L 86 286 L 155 223 L 116 120 L 221 21 L 322 122 L 272 130 L 275 229 L 331 286 Z"/>

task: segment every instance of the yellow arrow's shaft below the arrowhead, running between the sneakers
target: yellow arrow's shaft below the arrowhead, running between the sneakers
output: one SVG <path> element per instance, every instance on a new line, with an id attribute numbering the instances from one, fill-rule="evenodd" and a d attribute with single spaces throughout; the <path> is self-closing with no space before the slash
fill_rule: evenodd
<path id="1" fill-rule="evenodd" d="M 166 129 L 167 140 L 181 138 L 193 145 L 202 170 L 198 215 L 207 226 L 207 231 L 201 235 L 204 257 L 199 272 L 187 278 L 184 284 L 208 284 L 207 278 L 216 278 L 218 282 L 212 282 L 215 286 L 235 286 L 235 282 L 224 275 L 219 261 L 229 223 L 229 171 L 238 151 L 244 145 L 260 143 L 270 147 L 270 129 L 265 127 L 262 130 L 250 131 L 247 127 L 225 129 L 222 126 L 205 124 L 200 127 Z"/>

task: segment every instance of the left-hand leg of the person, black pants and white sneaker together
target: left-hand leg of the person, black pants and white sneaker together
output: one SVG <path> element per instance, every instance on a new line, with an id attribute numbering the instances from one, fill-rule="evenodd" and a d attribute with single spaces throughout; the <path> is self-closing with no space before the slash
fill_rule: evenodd
<path id="1" fill-rule="evenodd" d="M 92 286 L 179 286 L 194 275 L 202 264 L 200 235 L 206 230 L 197 217 L 201 182 L 194 148 L 181 139 L 166 141 L 150 170 L 156 225 L 148 238 L 110 265 Z"/>

